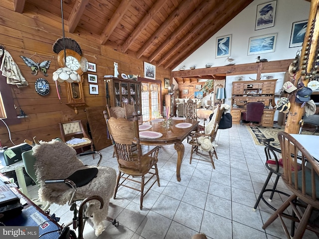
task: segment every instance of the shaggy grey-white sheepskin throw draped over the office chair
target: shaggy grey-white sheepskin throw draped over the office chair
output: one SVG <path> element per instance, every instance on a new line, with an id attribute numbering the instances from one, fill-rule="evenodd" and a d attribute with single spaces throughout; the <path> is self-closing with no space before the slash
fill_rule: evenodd
<path id="1" fill-rule="evenodd" d="M 59 205 L 64 205 L 71 199 L 73 190 L 64 183 L 45 184 L 44 181 L 65 179 L 77 170 L 94 167 L 85 166 L 76 157 L 73 148 L 57 140 L 40 141 L 40 144 L 33 147 L 33 156 L 36 158 L 34 168 L 40 186 L 39 198 Z M 92 216 L 96 236 L 105 230 L 104 220 L 108 216 L 109 202 L 116 184 L 116 171 L 113 168 L 97 168 L 97 176 L 88 184 L 77 188 L 74 195 L 74 200 L 84 200 L 93 195 L 102 197 L 104 201 L 102 209 L 99 209 L 100 203 L 97 200 L 92 200 L 85 212 L 87 217 Z"/>

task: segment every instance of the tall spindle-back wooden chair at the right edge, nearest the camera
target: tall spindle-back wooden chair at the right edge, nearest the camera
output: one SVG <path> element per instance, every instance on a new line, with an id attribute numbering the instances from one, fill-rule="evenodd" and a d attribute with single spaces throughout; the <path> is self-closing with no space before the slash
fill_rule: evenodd
<path id="1" fill-rule="evenodd" d="M 306 229 L 319 233 L 310 220 L 313 210 L 319 209 L 319 162 L 289 133 L 279 132 L 278 139 L 283 157 L 282 179 L 293 194 L 267 220 L 263 229 L 279 218 L 288 239 L 303 238 Z M 289 206 L 292 216 L 284 214 Z M 283 217 L 298 223 L 295 235 L 289 235 Z"/>

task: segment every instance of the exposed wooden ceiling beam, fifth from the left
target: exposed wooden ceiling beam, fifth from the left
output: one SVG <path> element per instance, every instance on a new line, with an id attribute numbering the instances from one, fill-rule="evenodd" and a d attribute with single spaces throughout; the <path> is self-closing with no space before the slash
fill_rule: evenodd
<path id="1" fill-rule="evenodd" d="M 141 58 L 143 54 L 146 52 L 146 50 L 152 45 L 153 41 L 155 39 L 158 39 L 158 37 L 162 34 L 162 32 L 174 22 L 175 19 L 179 16 L 179 12 L 183 12 L 189 7 L 189 4 L 193 0 L 183 0 L 176 8 L 175 10 L 166 18 L 166 20 L 163 22 L 163 24 L 160 25 L 160 27 L 153 33 L 153 35 L 145 42 L 145 44 L 142 46 L 142 48 L 138 51 L 138 58 Z M 153 60 L 153 59 L 152 59 Z"/>

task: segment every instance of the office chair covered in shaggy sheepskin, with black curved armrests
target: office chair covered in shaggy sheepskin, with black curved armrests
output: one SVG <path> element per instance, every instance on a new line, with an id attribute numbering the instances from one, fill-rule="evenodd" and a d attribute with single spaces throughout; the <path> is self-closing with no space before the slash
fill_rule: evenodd
<path id="1" fill-rule="evenodd" d="M 110 167 L 87 166 L 76 157 L 76 151 L 64 142 L 52 140 L 40 142 L 32 148 L 34 169 L 39 185 L 39 198 L 48 203 L 64 205 L 68 202 L 74 211 L 74 229 L 79 227 L 79 238 L 83 235 L 86 219 L 92 217 L 95 235 L 104 229 L 104 220 L 118 226 L 116 220 L 108 218 L 110 198 L 116 184 L 116 171 Z M 94 152 L 83 153 L 82 155 Z M 100 155 L 101 162 L 102 155 Z M 82 201 L 79 210 L 76 201 Z M 85 209 L 85 216 L 83 211 Z M 78 215 L 77 215 L 78 214 Z"/>

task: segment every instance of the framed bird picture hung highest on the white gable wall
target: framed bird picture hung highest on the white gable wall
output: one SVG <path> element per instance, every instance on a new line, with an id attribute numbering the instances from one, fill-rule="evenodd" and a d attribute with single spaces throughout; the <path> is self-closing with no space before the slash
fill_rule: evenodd
<path id="1" fill-rule="evenodd" d="M 275 25 L 277 0 L 257 5 L 255 30 Z"/>

